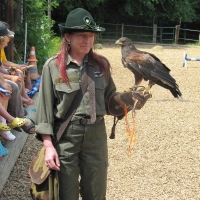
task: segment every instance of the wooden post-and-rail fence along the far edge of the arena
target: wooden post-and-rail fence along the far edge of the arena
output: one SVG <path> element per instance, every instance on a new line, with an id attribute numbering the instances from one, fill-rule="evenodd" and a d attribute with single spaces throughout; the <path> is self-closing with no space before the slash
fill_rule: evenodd
<path id="1" fill-rule="evenodd" d="M 125 24 L 101 23 L 106 31 L 100 35 L 100 39 L 118 39 L 122 36 L 129 37 L 133 41 L 152 43 L 199 43 L 200 30 L 191 30 L 180 25 L 166 26 L 136 26 Z"/>

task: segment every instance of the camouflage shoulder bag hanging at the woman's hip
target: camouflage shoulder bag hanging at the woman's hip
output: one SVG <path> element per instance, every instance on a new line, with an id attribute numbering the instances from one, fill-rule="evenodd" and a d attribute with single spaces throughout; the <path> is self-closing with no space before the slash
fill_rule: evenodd
<path id="1" fill-rule="evenodd" d="M 45 165 L 44 156 L 42 147 L 29 166 L 31 197 L 33 200 L 59 200 L 58 173 Z"/>

